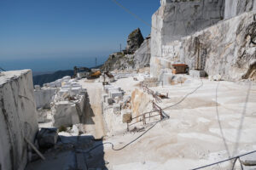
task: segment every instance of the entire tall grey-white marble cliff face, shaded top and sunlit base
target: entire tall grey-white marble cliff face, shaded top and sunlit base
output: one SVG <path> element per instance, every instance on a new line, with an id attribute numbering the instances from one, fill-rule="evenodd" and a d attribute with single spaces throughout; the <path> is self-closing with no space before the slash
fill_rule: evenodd
<path id="1" fill-rule="evenodd" d="M 229 80 L 253 77 L 255 44 L 249 40 L 254 37 L 253 12 L 233 17 L 253 10 L 255 2 L 161 0 L 160 4 L 152 16 L 151 77 L 160 79 L 173 63 L 194 69 L 195 55 L 204 58 L 202 69 L 208 75 Z"/>

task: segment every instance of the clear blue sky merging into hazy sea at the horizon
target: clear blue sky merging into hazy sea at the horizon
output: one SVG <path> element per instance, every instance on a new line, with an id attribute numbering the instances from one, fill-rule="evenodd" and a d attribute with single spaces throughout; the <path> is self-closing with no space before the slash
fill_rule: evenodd
<path id="1" fill-rule="evenodd" d="M 148 23 L 160 6 L 160 0 L 117 1 Z M 34 71 L 90 66 L 95 57 L 103 62 L 118 51 L 120 43 L 125 47 L 137 27 L 144 37 L 150 33 L 112 0 L 0 0 L 0 66 Z"/>

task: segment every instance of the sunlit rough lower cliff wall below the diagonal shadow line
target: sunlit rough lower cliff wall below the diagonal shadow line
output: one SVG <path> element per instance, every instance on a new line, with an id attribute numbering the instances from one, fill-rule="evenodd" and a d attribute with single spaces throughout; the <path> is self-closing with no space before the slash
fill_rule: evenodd
<path id="1" fill-rule="evenodd" d="M 211 76 L 219 74 L 231 81 L 255 79 L 255 16 L 255 12 L 244 13 L 171 42 L 165 46 L 165 57 L 158 58 L 161 68 L 158 74 L 163 74 L 175 62 L 186 63 L 190 69 L 200 62 L 201 69 Z"/>

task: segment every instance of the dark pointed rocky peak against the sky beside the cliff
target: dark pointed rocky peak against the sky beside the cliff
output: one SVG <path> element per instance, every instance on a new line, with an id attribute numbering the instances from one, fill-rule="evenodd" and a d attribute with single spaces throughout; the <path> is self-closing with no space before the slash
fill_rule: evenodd
<path id="1" fill-rule="evenodd" d="M 141 47 L 141 44 L 143 43 L 143 41 L 144 41 L 143 34 L 139 28 L 132 31 L 127 39 L 127 46 L 126 46 L 127 53 L 134 54 L 137 48 Z"/>

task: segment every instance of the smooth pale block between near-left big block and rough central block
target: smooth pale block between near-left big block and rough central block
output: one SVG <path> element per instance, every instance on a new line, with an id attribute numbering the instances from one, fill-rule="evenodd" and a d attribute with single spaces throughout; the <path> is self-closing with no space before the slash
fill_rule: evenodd
<path id="1" fill-rule="evenodd" d="M 50 102 L 53 101 L 56 88 L 41 88 L 34 90 L 34 98 L 37 108 L 50 108 Z"/>

